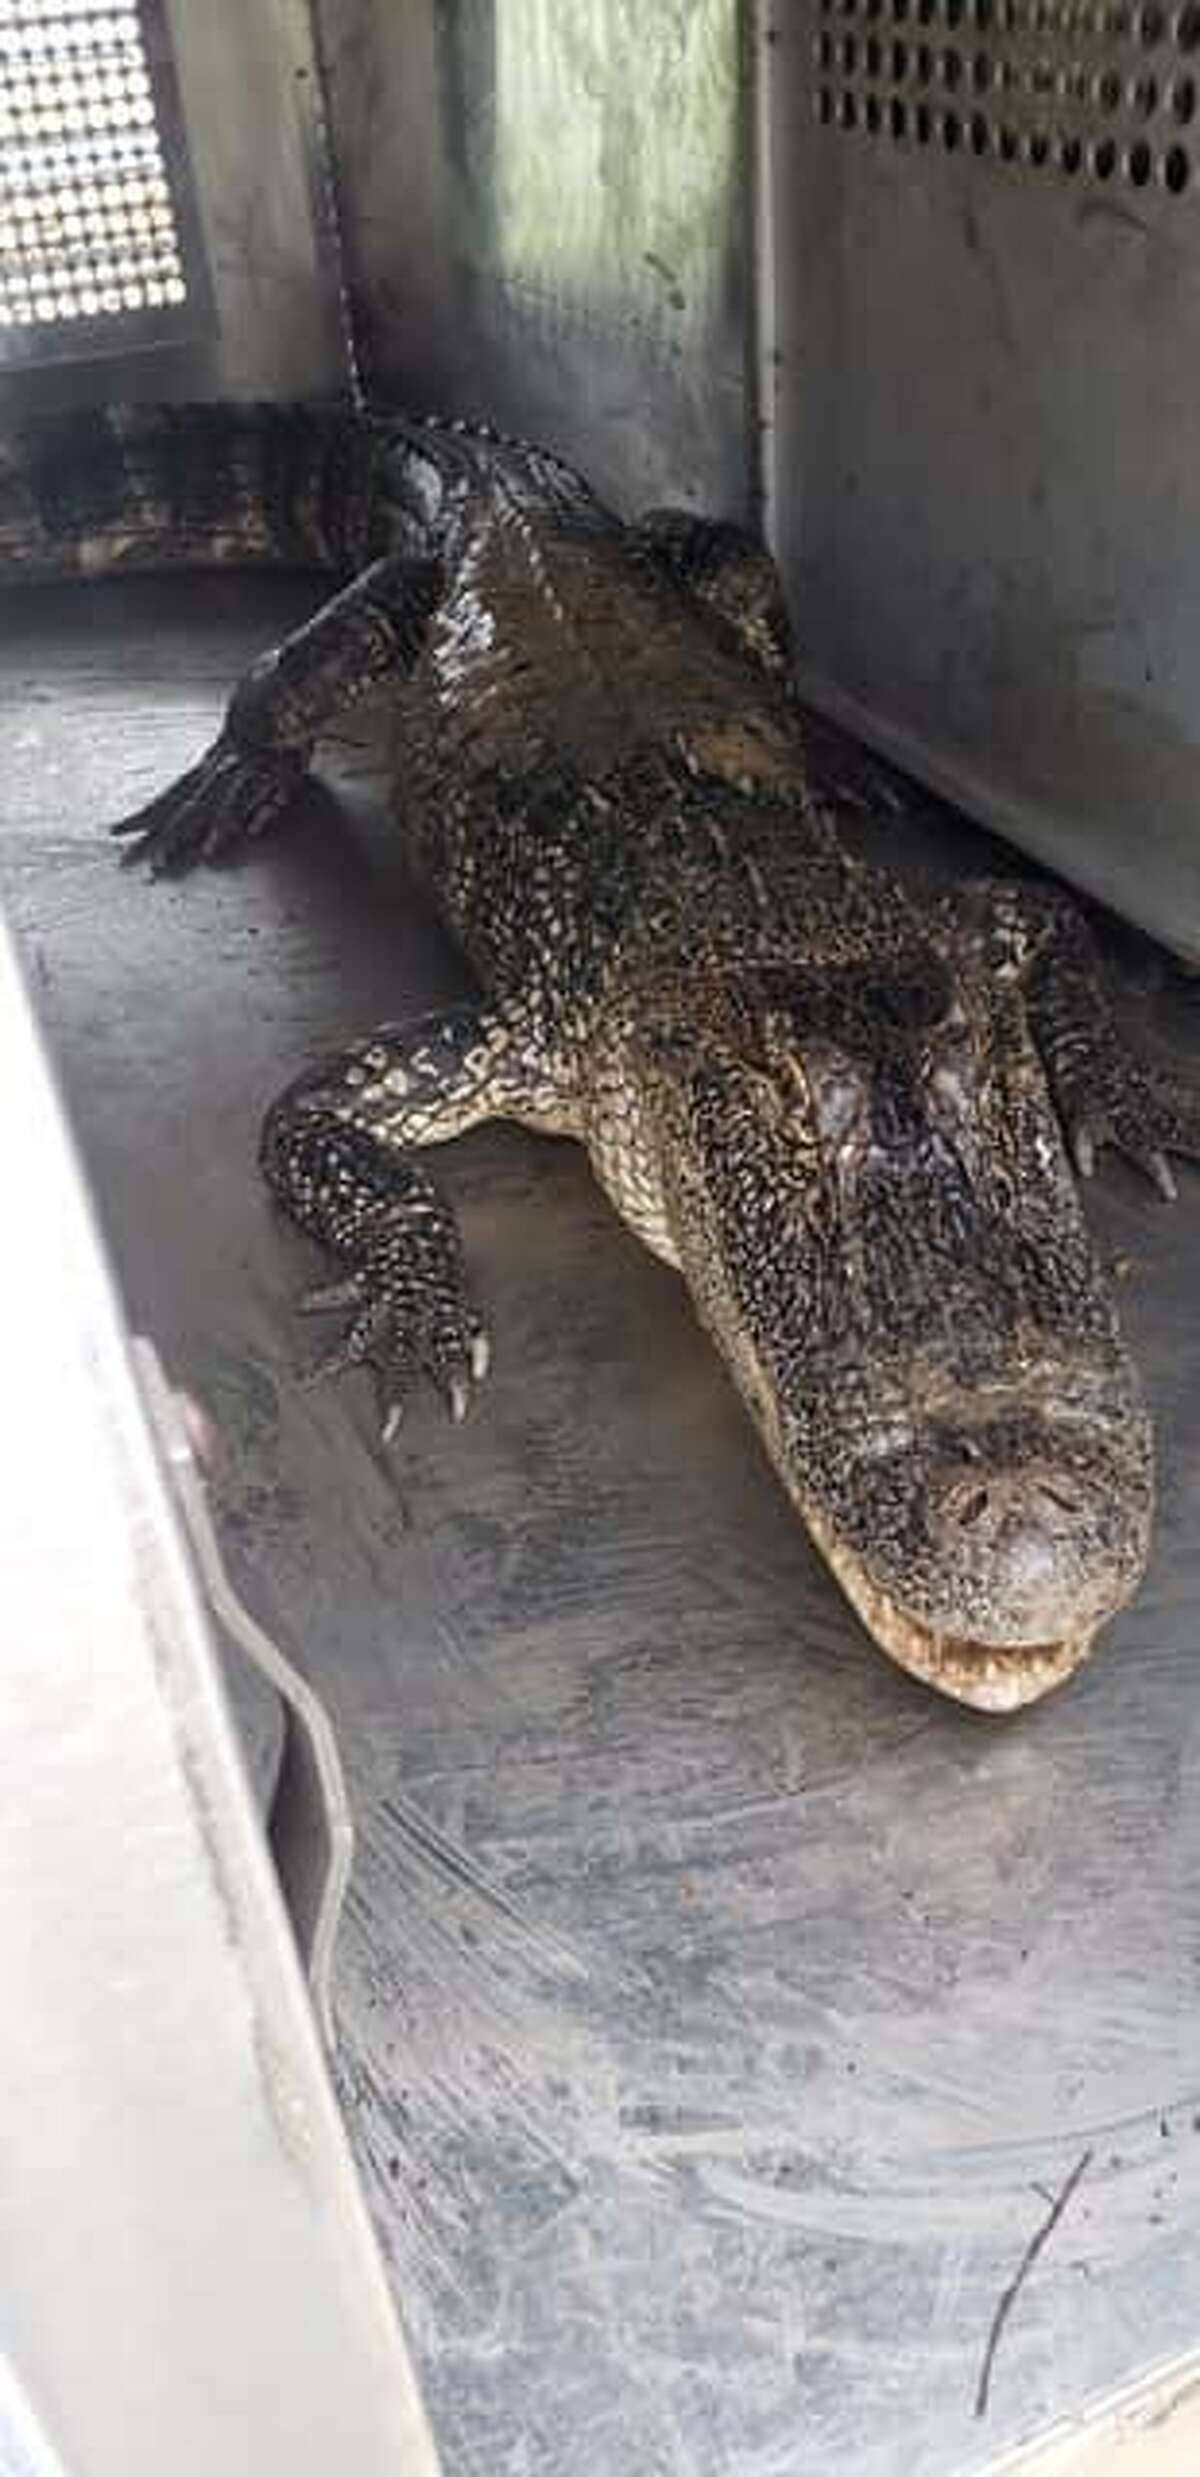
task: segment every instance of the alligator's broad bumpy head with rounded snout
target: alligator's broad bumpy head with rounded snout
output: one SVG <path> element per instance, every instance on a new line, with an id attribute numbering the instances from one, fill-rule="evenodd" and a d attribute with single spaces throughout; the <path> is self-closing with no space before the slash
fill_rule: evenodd
<path id="1" fill-rule="evenodd" d="M 1153 1499 L 1019 991 L 920 934 L 714 1021 L 660 1087 L 697 1308 L 875 1642 L 1017 1709 L 1131 1598 Z"/>

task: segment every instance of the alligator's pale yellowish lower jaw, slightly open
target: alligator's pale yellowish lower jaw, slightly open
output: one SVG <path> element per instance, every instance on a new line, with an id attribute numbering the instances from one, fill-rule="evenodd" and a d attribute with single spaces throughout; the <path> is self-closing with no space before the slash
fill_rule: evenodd
<path id="1" fill-rule="evenodd" d="M 937 1635 L 870 1580 L 853 1551 L 831 1536 L 813 1508 L 806 1506 L 803 1516 L 831 1573 L 888 1660 L 937 1694 L 969 1704 L 972 1712 L 1019 1712 L 1021 1704 L 1066 1684 L 1091 1652 L 1101 1627 L 1096 1617 L 1049 1642 L 969 1642 Z"/>

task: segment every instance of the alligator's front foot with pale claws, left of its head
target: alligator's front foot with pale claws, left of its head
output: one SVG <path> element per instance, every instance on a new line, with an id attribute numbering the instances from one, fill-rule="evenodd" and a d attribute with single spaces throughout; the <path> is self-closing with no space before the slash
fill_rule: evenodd
<path id="1" fill-rule="evenodd" d="M 491 1343 L 461 1263 L 451 1256 L 431 1266 L 389 1238 L 377 1241 L 355 1273 L 305 1291 L 298 1313 L 350 1313 L 342 1340 L 300 1382 L 307 1390 L 352 1367 L 372 1367 L 384 1444 L 397 1437 L 421 1377 L 434 1385 L 459 1427 L 488 1375 Z"/>

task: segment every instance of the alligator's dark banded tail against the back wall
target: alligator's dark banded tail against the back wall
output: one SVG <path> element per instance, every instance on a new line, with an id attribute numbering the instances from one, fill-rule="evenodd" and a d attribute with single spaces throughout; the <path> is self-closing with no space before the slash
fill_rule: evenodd
<path id="1" fill-rule="evenodd" d="M 300 404 L 114 404 L 0 424 L 0 587 L 369 557 L 372 426 Z"/>

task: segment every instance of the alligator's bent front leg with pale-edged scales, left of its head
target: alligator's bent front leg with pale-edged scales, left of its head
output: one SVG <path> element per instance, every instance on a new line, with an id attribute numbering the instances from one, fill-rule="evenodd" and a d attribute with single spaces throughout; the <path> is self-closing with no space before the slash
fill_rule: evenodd
<path id="1" fill-rule="evenodd" d="M 312 1380 L 374 1367 L 384 1444 L 424 1375 L 454 1419 L 488 1372 L 488 1338 L 454 1211 L 412 1159 L 488 1117 L 568 1132 L 568 1105 L 518 1013 L 459 1006 L 367 1040 L 300 1075 L 263 1125 L 260 1167 L 340 1263 L 300 1300 L 350 1325 Z"/>

